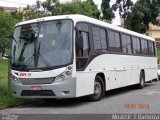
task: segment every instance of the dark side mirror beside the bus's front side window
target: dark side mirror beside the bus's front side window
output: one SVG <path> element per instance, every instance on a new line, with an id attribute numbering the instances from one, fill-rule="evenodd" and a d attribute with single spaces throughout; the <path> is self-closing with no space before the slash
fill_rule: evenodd
<path id="1" fill-rule="evenodd" d="M 83 35 L 79 30 L 76 30 L 76 47 L 77 49 L 83 49 Z"/>

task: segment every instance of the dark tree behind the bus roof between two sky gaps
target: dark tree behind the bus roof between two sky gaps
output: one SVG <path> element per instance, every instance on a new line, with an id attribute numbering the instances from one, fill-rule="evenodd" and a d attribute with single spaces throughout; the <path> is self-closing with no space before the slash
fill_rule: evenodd
<path id="1" fill-rule="evenodd" d="M 111 21 L 115 18 L 113 9 L 110 7 L 110 0 L 102 0 L 101 10 L 102 10 L 102 19 Z"/>

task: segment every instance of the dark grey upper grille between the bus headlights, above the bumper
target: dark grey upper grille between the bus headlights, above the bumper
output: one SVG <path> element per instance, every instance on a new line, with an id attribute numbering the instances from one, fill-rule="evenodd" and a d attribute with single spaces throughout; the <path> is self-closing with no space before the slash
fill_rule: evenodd
<path id="1" fill-rule="evenodd" d="M 19 78 L 23 85 L 52 84 L 55 78 Z"/>

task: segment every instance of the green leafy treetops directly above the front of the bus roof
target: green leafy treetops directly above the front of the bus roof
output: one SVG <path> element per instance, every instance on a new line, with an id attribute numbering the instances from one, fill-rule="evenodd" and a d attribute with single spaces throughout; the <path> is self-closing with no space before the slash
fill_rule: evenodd
<path id="1" fill-rule="evenodd" d="M 60 3 L 59 0 L 37 1 L 36 5 L 25 9 L 26 20 L 54 15 L 83 14 L 94 18 L 100 17 L 100 11 L 93 0 Z"/>

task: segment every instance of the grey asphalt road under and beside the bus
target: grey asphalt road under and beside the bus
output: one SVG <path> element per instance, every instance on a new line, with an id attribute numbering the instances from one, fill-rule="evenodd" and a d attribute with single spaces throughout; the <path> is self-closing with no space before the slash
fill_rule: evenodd
<path id="1" fill-rule="evenodd" d="M 89 102 L 85 97 L 76 99 L 39 101 L 6 110 L 0 114 L 160 114 L 160 82 L 146 83 L 143 89 L 135 86 L 106 92 L 98 102 Z"/>

